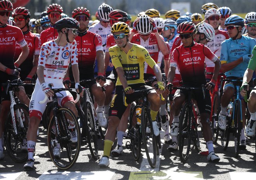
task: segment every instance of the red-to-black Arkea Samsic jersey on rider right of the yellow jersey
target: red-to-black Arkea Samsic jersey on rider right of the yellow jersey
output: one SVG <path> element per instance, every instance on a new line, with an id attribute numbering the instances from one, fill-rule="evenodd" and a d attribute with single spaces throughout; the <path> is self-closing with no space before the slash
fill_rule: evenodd
<path id="1" fill-rule="evenodd" d="M 195 43 L 189 48 L 180 45 L 171 54 L 170 66 L 178 67 L 183 83 L 202 85 L 206 83 L 204 75 L 204 59 L 206 57 L 213 62 L 218 60 L 218 57 L 203 44 Z"/>

